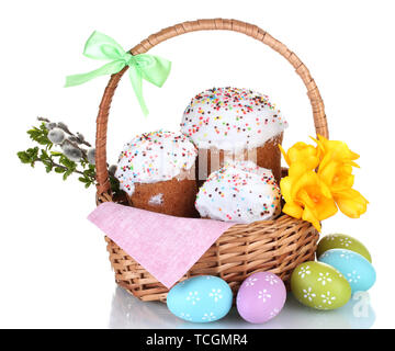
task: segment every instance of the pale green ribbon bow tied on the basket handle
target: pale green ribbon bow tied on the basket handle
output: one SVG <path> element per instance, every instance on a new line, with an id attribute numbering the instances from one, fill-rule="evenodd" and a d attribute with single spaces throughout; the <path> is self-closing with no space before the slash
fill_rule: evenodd
<path id="1" fill-rule="evenodd" d="M 112 37 L 99 32 L 93 32 L 89 37 L 83 55 L 93 59 L 111 60 L 111 63 L 88 73 L 66 77 L 65 87 L 79 86 L 100 76 L 114 75 L 128 66 L 132 87 L 144 115 L 148 114 L 148 109 L 143 98 L 143 79 L 160 88 L 168 78 L 171 68 L 169 60 L 146 54 L 132 55 L 125 52 Z"/>

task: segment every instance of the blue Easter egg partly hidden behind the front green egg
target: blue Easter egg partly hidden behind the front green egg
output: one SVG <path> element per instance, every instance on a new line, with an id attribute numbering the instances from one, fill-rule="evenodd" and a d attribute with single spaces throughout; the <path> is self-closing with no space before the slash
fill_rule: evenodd
<path id="1" fill-rule="evenodd" d="M 336 268 L 350 283 L 351 293 L 365 292 L 375 282 L 376 274 L 373 265 L 357 252 L 346 249 L 325 251 L 318 261 Z"/>

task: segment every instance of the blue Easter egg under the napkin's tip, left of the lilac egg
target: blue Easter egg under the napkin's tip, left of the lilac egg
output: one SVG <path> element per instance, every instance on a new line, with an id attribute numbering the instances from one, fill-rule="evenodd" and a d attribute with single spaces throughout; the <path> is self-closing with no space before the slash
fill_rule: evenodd
<path id="1" fill-rule="evenodd" d="M 233 294 L 229 285 L 221 278 L 200 275 L 174 285 L 168 296 L 170 312 L 188 321 L 208 322 L 227 315 Z"/>

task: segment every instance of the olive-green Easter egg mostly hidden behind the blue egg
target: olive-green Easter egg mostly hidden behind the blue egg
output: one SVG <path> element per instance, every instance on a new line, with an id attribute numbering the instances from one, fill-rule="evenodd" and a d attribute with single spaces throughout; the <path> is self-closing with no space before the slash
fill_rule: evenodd
<path id="1" fill-rule="evenodd" d="M 345 235 L 345 234 L 330 234 L 319 240 L 317 248 L 317 258 L 319 258 L 325 251 L 331 249 L 347 249 L 354 251 L 363 256 L 369 262 L 372 263 L 372 257 L 368 249 L 361 241 Z"/>

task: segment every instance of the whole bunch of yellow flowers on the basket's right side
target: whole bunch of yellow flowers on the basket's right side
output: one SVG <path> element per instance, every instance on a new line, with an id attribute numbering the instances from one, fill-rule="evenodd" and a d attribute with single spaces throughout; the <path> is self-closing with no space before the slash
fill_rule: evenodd
<path id="1" fill-rule="evenodd" d="M 279 145 L 290 166 L 280 188 L 285 200 L 283 212 L 312 223 L 320 231 L 319 222 L 335 215 L 338 207 L 347 216 L 358 218 L 366 212 L 369 202 L 352 189 L 352 167 L 359 167 L 354 162 L 359 155 L 343 141 L 321 135 L 312 139 L 317 147 L 296 143 L 285 152 Z"/>

